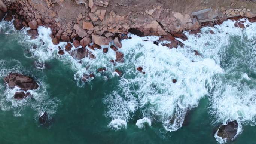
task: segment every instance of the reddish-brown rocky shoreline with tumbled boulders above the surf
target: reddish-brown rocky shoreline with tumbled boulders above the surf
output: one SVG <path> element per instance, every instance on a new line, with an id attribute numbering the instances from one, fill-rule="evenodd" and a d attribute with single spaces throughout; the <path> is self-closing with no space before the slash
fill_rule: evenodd
<path id="1" fill-rule="evenodd" d="M 62 7 L 67 6 L 67 4 L 76 4 L 76 7 L 84 8 L 85 13 L 79 13 L 75 21 L 62 19 L 60 12 L 63 10 Z M 115 43 L 114 51 L 117 51 L 118 48 L 122 47 L 120 40 L 127 39 L 128 33 L 138 36 L 162 36 L 160 41 L 171 41 L 167 46 L 177 48 L 178 45 L 182 46 L 183 44 L 175 37 L 186 40 L 186 36 L 182 34 L 183 31 L 189 30 L 189 34 L 196 34 L 204 26 L 221 24 L 227 19 L 238 20 L 247 17 L 250 22 L 256 21 L 256 15 L 246 8 L 226 9 L 223 12 L 208 8 L 192 12 L 190 15 L 172 12 L 172 14 L 162 17 L 165 9 L 161 3 L 157 3 L 153 9 L 146 9 L 145 12 L 135 12 L 135 14 L 130 12 L 122 16 L 108 9 L 112 5 L 109 0 L 69 0 L 69 3 L 63 0 L 0 0 L 0 19 L 4 18 L 5 21 L 11 21 L 14 18 L 13 24 L 16 30 L 30 27 L 27 33 L 31 39 L 38 37 L 38 26 L 51 28 L 50 37 L 54 45 L 58 45 L 61 41 L 68 42 L 67 48 L 65 48 L 68 52 L 71 50 L 68 46 L 69 43 L 73 43 L 76 48 L 83 47 L 77 49 L 78 52 L 82 52 L 77 59 L 82 59 L 85 56 L 95 58 L 85 49 L 90 43 L 95 45 L 89 46 L 89 48 L 95 49 L 99 48 L 100 45 L 109 45 L 109 42 L 113 40 Z M 115 6 L 117 7 L 116 4 Z M 122 4 L 120 6 L 125 7 Z M 66 10 L 68 11 L 68 7 Z M 4 17 L 5 13 L 7 14 Z M 138 18 L 133 19 L 130 16 L 136 16 L 138 13 L 142 15 L 140 19 L 143 21 L 139 21 Z M 237 23 L 236 26 L 245 27 L 243 22 Z M 211 31 L 210 33 L 213 34 Z M 104 52 L 107 52 L 107 49 Z M 64 51 L 60 50 L 58 53 L 61 55 L 64 54 Z M 71 55 L 72 53 L 74 52 L 70 52 Z M 116 61 L 122 62 L 123 60 L 117 58 Z"/>

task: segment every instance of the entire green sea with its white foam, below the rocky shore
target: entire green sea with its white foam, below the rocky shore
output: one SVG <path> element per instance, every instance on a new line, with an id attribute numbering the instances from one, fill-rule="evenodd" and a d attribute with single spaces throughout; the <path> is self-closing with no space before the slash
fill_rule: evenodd
<path id="1" fill-rule="evenodd" d="M 225 143 L 217 126 L 232 120 L 239 129 L 231 143 L 254 144 L 256 24 L 244 20 L 245 29 L 228 20 L 198 35 L 185 32 L 184 48 L 129 34 L 119 49 L 125 62 L 115 66 L 110 48 L 91 50 L 96 59 L 76 60 L 58 55 L 66 43 L 52 45 L 50 29 L 39 27 L 39 38 L 30 40 L 28 28 L 0 22 L 1 144 L 217 144 Z M 107 71 L 97 72 L 103 67 Z M 32 98 L 13 98 L 17 89 L 3 82 L 9 72 L 35 78 Z M 82 82 L 91 73 L 95 77 Z M 38 121 L 43 111 L 47 125 Z"/>

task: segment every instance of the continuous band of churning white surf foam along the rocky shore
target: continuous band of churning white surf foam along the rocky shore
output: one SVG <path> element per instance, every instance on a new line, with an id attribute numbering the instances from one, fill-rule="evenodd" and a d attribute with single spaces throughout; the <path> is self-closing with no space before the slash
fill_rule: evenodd
<path id="1" fill-rule="evenodd" d="M 256 24 L 246 21 L 244 25 L 249 28 L 243 30 L 234 23 L 228 20 L 221 25 L 204 27 L 200 37 L 185 32 L 188 35 L 188 40 L 183 42 L 185 47 L 177 49 L 168 49 L 161 43 L 154 45 L 152 41 L 159 38 L 156 36 L 130 34 L 132 39 L 122 40 L 123 46 L 119 49 L 124 53 L 125 62 L 116 66 L 109 62 L 115 59 L 115 52 L 110 48 L 108 53 L 102 53 L 102 49 L 91 50 L 96 56 L 93 60 L 78 61 L 68 52 L 59 56 L 58 46 L 64 49 L 66 43 L 53 45 L 49 37 L 51 31 L 44 27 L 39 27 L 38 39 L 22 42 L 37 45 L 36 50 L 32 47 L 30 50 L 39 61 L 58 58 L 70 65 L 78 86 L 84 86 L 83 74 L 95 73 L 98 68 L 106 67 L 105 80 L 116 76 L 116 68 L 124 70 L 118 88 L 103 99 L 112 129 L 126 128 L 140 109 L 143 117 L 162 122 L 167 131 L 175 131 L 182 126 L 186 111 L 197 107 L 204 96 L 210 99 L 209 113 L 214 117 L 213 123 L 237 120 L 241 127 L 256 124 L 255 86 L 249 85 L 255 82 L 250 74 L 256 73 Z M 210 34 L 210 30 L 215 34 Z M 195 56 L 194 50 L 202 56 Z M 143 67 L 145 74 L 138 72 L 137 67 Z M 101 77 L 100 73 L 95 75 Z M 242 83 L 241 77 L 248 82 Z M 172 79 L 177 79 L 177 83 L 172 83 Z"/>

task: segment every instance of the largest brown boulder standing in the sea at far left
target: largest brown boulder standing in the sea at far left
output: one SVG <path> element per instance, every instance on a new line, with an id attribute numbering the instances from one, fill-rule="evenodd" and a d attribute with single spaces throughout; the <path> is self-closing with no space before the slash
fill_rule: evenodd
<path id="1" fill-rule="evenodd" d="M 6 82 L 12 89 L 15 86 L 24 91 L 38 88 L 38 84 L 33 78 L 18 73 L 9 73 L 8 76 L 4 78 L 4 82 Z"/>

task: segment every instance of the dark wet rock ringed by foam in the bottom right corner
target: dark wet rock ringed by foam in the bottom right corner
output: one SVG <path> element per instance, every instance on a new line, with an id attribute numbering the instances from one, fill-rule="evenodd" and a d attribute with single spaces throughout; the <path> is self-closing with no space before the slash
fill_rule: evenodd
<path id="1" fill-rule="evenodd" d="M 228 141 L 232 140 L 237 134 L 238 123 L 236 120 L 228 122 L 226 125 L 220 125 L 217 130 L 217 136 L 226 138 Z"/>

